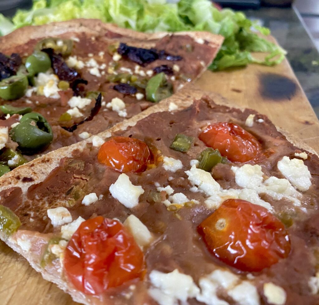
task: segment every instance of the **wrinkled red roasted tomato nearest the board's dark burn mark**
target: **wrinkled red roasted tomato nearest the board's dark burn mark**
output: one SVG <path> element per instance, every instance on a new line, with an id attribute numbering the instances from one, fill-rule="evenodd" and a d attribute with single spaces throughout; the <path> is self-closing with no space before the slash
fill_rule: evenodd
<path id="1" fill-rule="evenodd" d="M 248 131 L 233 123 L 209 125 L 199 134 L 207 146 L 218 149 L 232 162 L 247 162 L 261 151 L 261 145 Z"/>

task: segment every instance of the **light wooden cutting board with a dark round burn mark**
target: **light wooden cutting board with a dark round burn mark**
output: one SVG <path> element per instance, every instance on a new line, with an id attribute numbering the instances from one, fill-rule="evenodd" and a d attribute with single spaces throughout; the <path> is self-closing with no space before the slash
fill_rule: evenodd
<path id="1" fill-rule="evenodd" d="M 229 72 L 205 72 L 196 85 L 241 107 L 267 114 L 273 123 L 319 152 L 319 121 L 287 60 L 275 67 L 250 65 Z M 68 294 L 34 271 L 0 243 L 1 305 L 76 305 Z"/>

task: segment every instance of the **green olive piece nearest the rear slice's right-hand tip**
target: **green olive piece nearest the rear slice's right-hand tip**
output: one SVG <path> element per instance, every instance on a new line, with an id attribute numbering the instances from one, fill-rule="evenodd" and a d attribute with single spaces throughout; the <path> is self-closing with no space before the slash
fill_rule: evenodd
<path id="1" fill-rule="evenodd" d="M 173 93 L 172 84 L 167 82 L 164 72 L 161 72 L 147 82 L 145 88 L 146 99 L 157 103 L 164 98 L 168 98 Z"/>

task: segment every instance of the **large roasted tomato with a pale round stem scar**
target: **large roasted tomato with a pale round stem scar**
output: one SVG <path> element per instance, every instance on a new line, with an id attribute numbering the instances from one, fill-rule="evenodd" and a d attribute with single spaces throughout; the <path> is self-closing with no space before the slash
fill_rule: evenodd
<path id="1" fill-rule="evenodd" d="M 224 201 L 198 229 L 216 257 L 242 271 L 263 270 L 290 252 L 283 223 L 245 200 Z"/>

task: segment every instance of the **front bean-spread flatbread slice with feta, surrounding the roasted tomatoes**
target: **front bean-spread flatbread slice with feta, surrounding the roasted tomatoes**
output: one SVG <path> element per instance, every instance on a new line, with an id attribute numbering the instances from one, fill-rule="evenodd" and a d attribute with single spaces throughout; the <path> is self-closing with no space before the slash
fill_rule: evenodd
<path id="1" fill-rule="evenodd" d="M 256 158 L 243 163 L 226 152 L 222 156 L 228 160 L 220 158 L 211 169 L 202 165 L 208 148 L 201 133 L 219 122 L 235 124 L 256 139 Z M 110 137 L 147 143 L 153 161 L 137 173 L 100 163 L 100 145 Z M 317 304 L 318 163 L 316 154 L 287 141 L 265 115 L 233 108 L 213 93 L 182 90 L 98 136 L 0 178 L 0 203 L 22 223 L 17 231 L 13 224 L 13 234 L 4 225 L 0 237 L 83 304 Z M 210 252 L 198 228 L 227 199 L 245 200 L 245 207 L 267 215 L 276 233 L 265 238 L 280 251 L 270 254 L 265 246 L 257 266 L 254 251 L 248 258 L 242 254 L 239 261 L 246 257 L 246 267 Z M 59 207 L 66 214 L 58 215 Z M 145 269 L 143 276 L 98 293 L 88 276 L 90 293 L 84 284 L 75 288 L 66 262 L 72 234 L 82 221 L 99 215 L 124 223 L 141 248 Z M 248 232 L 237 221 L 232 222 L 236 238 Z M 227 215 L 218 223 L 222 230 Z"/>

